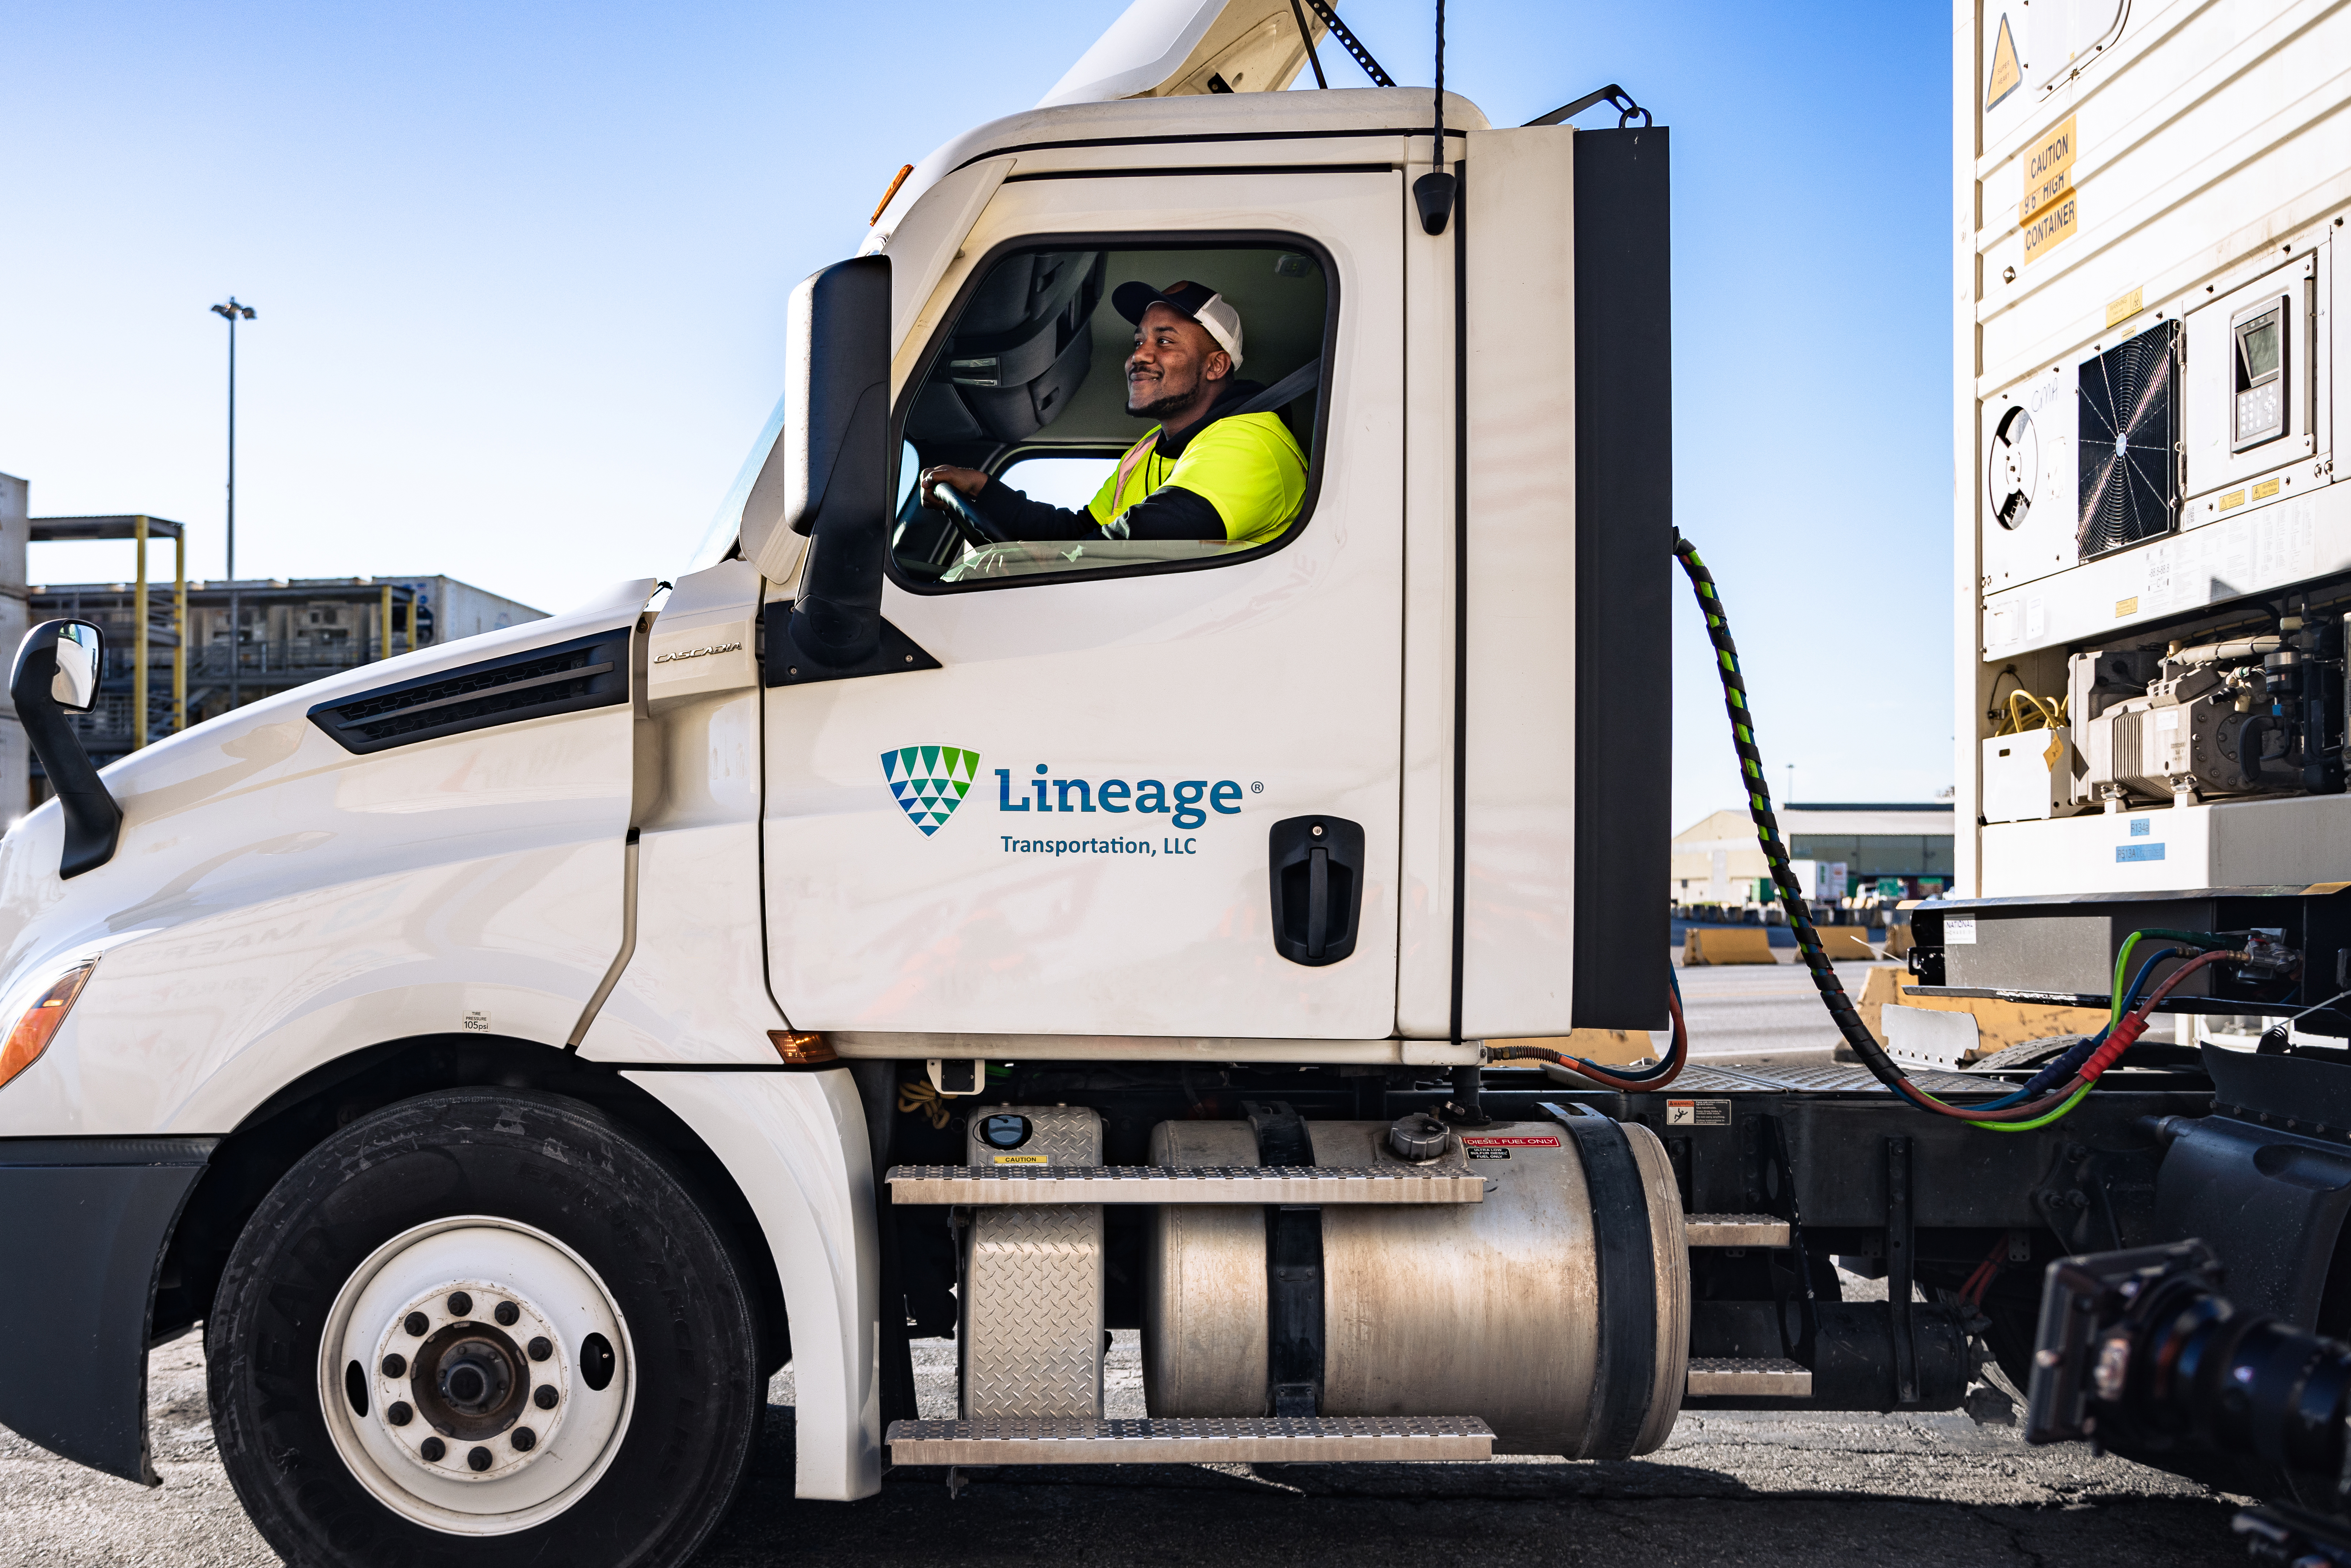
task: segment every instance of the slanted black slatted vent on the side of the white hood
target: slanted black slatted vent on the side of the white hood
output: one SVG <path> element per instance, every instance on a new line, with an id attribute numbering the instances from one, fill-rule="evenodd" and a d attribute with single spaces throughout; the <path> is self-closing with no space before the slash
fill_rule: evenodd
<path id="1" fill-rule="evenodd" d="M 310 722 L 348 752 L 461 736 L 494 724 L 628 701 L 628 639 L 621 625 L 545 649 L 484 658 L 477 665 L 376 686 L 320 703 Z"/>

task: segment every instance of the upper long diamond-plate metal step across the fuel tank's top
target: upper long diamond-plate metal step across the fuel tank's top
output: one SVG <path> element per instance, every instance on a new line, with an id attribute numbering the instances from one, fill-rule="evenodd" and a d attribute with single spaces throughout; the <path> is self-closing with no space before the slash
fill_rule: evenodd
<path id="1" fill-rule="evenodd" d="M 1483 1204 L 1420 1166 L 891 1166 L 891 1204 Z"/>

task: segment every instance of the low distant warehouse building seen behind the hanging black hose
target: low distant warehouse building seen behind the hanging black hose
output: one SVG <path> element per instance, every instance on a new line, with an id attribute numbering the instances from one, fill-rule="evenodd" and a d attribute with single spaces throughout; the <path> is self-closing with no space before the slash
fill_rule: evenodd
<path id="1" fill-rule="evenodd" d="M 1918 898 L 1951 886 L 1949 802 L 1796 804 L 1780 809 L 1780 832 L 1799 877 L 1806 865 L 1843 865 L 1846 893 Z M 1770 870 L 1744 809 L 1714 811 L 1674 835 L 1676 905 L 1747 905 L 1768 900 Z M 1759 891 L 1759 884 L 1761 891 Z M 1817 882 L 1810 898 L 1834 898 Z"/>

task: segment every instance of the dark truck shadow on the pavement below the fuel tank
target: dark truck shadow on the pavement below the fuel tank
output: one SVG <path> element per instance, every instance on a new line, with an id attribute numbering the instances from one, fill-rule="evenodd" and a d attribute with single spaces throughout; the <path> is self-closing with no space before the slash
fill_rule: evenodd
<path id="1" fill-rule="evenodd" d="M 1681 1462 L 1023 1465 L 891 1469 L 853 1507 L 792 1497 L 792 1410 L 769 1406 L 752 1479 L 698 1566 L 842 1563 L 1881 1563 L 2067 1568 L 2236 1561 L 2224 1497 L 2074 1495 L 2003 1507 L 1888 1490 L 1855 1455 L 1836 1488 L 1759 1490 Z M 1874 1474 L 1878 1472 L 1878 1474 Z"/>

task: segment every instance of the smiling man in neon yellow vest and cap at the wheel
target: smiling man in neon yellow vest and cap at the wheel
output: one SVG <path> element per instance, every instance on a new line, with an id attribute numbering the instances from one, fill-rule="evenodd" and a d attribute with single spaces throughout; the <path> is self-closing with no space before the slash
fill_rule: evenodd
<path id="1" fill-rule="evenodd" d="M 1126 411 L 1157 418 L 1084 510 L 1030 501 L 978 468 L 922 473 L 922 501 L 945 484 L 994 538 L 1187 538 L 1262 543 L 1298 517 L 1307 458 L 1274 411 L 1241 414 L 1265 388 L 1241 381 L 1241 313 L 1197 282 L 1126 282 L 1110 296 L 1136 322 Z"/>

